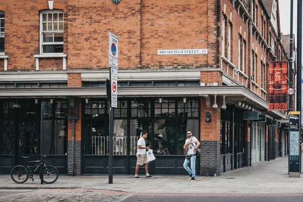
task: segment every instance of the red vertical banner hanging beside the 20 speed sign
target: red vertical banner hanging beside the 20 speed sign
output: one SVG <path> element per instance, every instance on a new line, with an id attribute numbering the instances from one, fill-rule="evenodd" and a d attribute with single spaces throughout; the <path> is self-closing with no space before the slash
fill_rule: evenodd
<path id="1" fill-rule="evenodd" d="M 287 110 L 287 61 L 269 62 L 268 110 Z"/>

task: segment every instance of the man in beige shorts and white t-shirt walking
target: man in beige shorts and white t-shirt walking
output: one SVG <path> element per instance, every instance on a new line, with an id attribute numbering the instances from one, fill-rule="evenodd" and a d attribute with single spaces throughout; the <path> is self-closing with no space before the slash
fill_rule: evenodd
<path id="1" fill-rule="evenodd" d="M 138 139 L 137 142 L 137 165 L 135 170 L 135 177 L 134 179 L 142 179 L 138 176 L 139 167 L 143 166 L 145 164 L 145 173 L 146 173 L 146 179 L 154 178 L 154 176 L 151 176 L 148 174 L 148 162 L 146 157 L 146 151 L 149 149 L 149 146 L 145 146 L 145 139 L 147 137 L 147 132 L 142 131 L 142 137 Z"/>

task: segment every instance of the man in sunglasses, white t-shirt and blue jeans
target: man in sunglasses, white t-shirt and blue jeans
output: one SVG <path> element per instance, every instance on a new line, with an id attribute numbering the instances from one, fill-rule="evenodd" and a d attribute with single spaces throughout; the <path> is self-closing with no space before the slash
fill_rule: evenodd
<path id="1" fill-rule="evenodd" d="M 192 136 L 192 132 L 188 130 L 186 132 L 187 139 L 185 140 L 185 144 L 183 146 L 184 149 L 187 150 L 187 155 L 183 164 L 183 167 L 189 174 L 189 181 L 195 181 L 195 160 L 196 160 L 196 151 L 197 148 L 200 146 L 200 142 Z M 191 169 L 189 169 L 188 164 L 190 162 Z"/>

